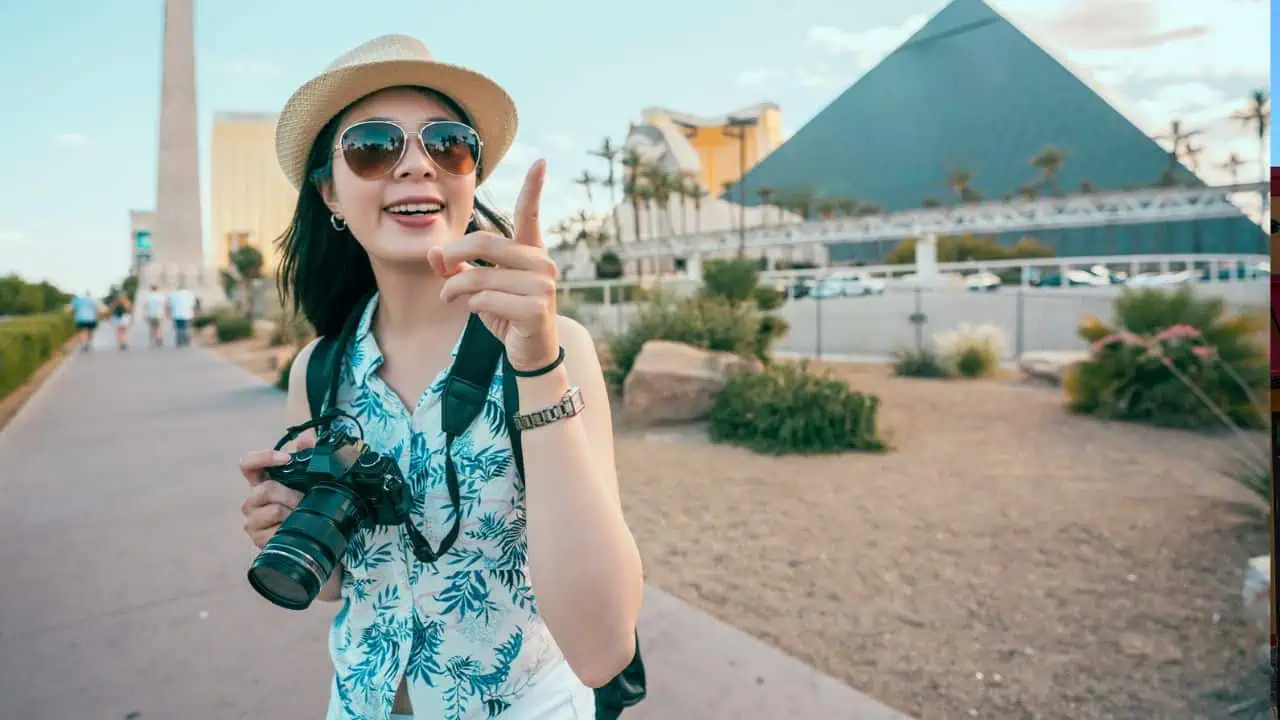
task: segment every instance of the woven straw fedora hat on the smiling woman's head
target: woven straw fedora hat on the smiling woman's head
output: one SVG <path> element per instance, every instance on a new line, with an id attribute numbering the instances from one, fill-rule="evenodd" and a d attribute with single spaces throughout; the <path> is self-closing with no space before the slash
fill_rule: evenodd
<path id="1" fill-rule="evenodd" d="M 275 156 L 294 190 L 306 182 L 307 155 L 325 124 L 356 100 L 388 87 L 431 88 L 454 102 L 480 133 L 476 184 L 493 173 L 516 137 L 516 104 L 488 77 L 431 59 L 417 38 L 383 35 L 340 55 L 284 104 L 275 123 Z"/>

